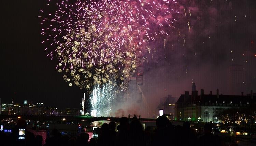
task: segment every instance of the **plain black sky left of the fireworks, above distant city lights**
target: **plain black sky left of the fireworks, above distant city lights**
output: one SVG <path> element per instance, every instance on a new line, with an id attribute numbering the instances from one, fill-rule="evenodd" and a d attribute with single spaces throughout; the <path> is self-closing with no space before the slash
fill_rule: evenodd
<path id="1" fill-rule="evenodd" d="M 79 107 L 83 91 L 65 84 L 41 46 L 42 0 L 1 1 L 2 102 L 43 102 L 46 106 Z M 16 93 L 16 94 L 15 94 Z"/>

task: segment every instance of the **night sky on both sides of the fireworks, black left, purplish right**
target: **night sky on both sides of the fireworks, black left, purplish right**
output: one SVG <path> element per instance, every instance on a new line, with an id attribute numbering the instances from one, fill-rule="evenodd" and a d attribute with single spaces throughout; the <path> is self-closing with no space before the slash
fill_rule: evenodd
<path id="1" fill-rule="evenodd" d="M 38 16 L 45 1 L 0 2 L 1 99 L 79 108 L 83 90 L 68 86 L 55 69 L 57 62 L 46 57 L 41 45 Z M 143 94 L 147 103 L 156 107 L 160 97 L 191 91 L 192 79 L 205 93 L 215 93 L 217 88 L 222 94 L 256 91 L 256 1 L 180 3 L 182 16 L 166 37 L 166 48 L 163 42 L 156 43 L 151 46 L 153 53 L 146 54 Z M 231 73 L 231 68 L 241 75 Z"/>

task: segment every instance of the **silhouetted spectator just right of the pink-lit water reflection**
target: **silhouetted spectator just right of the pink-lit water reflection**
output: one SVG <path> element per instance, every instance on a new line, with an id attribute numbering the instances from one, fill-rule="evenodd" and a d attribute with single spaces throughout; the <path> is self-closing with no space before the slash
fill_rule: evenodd
<path id="1" fill-rule="evenodd" d="M 100 134 L 97 139 L 98 146 L 109 146 L 109 125 L 104 123 L 101 125 Z"/>

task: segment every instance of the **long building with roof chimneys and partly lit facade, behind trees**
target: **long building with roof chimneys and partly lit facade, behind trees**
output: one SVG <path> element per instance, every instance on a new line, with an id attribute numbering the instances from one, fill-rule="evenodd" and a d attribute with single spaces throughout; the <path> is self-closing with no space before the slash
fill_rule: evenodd
<path id="1" fill-rule="evenodd" d="M 222 95 L 217 89 L 216 94 L 204 94 L 201 89 L 198 91 L 185 91 L 175 103 L 174 120 L 180 121 L 198 121 L 198 122 L 218 122 L 214 117 L 215 113 L 229 108 L 253 107 L 256 105 L 256 95 L 251 91 L 247 95 Z"/>

